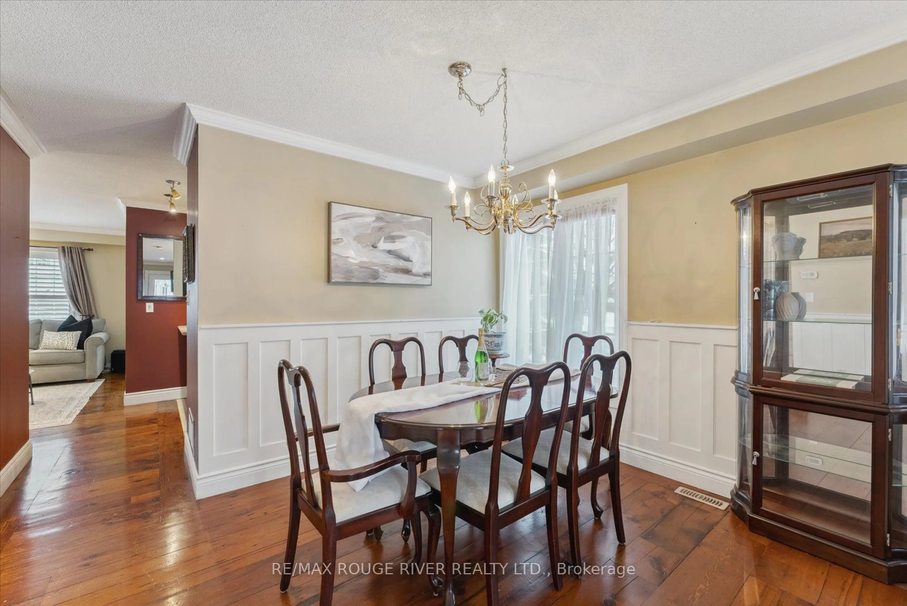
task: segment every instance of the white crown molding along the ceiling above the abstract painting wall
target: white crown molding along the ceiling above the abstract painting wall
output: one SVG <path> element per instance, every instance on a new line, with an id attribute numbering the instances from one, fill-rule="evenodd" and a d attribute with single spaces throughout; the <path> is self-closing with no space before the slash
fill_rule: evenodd
<path id="1" fill-rule="evenodd" d="M 186 103 L 185 105 L 180 128 L 178 129 L 176 139 L 173 142 L 173 155 L 183 164 L 186 164 L 189 161 L 189 152 L 192 147 L 192 137 L 194 136 L 196 124 L 205 124 L 206 126 L 213 126 L 215 128 L 223 129 L 224 131 L 248 134 L 252 137 L 258 137 L 259 139 L 284 143 L 285 145 L 292 145 L 293 147 L 299 147 L 311 152 L 324 153 L 328 156 L 346 158 L 346 160 L 362 162 L 363 164 L 370 164 L 371 166 L 390 169 L 391 171 L 404 172 L 416 177 L 431 179 L 432 181 L 446 183 L 447 179 L 451 177 L 451 174 L 448 171 L 442 169 L 435 169 L 434 167 L 425 166 L 424 164 L 419 164 L 417 162 L 401 160 L 383 153 L 369 152 L 368 150 L 353 147 L 352 145 L 346 145 L 345 143 L 328 141 L 327 139 L 321 139 L 320 137 L 314 137 L 302 132 L 290 131 L 289 129 L 272 126 L 265 122 L 249 120 L 249 118 L 241 118 L 230 113 L 219 112 L 207 107 L 193 105 L 192 103 Z M 470 178 L 463 177 L 462 175 L 453 175 L 453 179 L 461 183 L 472 181 Z"/>

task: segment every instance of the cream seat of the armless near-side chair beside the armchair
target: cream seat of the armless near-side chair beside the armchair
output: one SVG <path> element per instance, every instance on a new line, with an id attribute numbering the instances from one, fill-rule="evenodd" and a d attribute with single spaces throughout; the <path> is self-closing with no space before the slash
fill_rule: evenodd
<path id="1" fill-rule="evenodd" d="M 551 445 L 548 446 L 551 452 Z M 516 501 L 517 488 L 520 484 L 522 465 L 509 456 L 501 457 L 501 480 L 498 484 L 498 508 L 509 507 Z M 488 486 L 491 483 L 492 451 L 483 450 L 463 457 L 460 461 L 460 474 L 457 476 L 456 500 L 476 512 L 485 511 L 488 503 Z M 441 479 L 437 468 L 429 469 L 419 476 L 434 490 L 441 491 Z M 545 487 L 545 478 L 532 472 L 529 483 L 530 494 Z"/>

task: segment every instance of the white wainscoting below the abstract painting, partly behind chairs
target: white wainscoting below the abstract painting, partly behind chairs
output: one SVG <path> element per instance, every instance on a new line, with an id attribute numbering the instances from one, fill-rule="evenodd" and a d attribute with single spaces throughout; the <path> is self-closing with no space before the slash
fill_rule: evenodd
<path id="1" fill-rule="evenodd" d="M 236 490 L 289 473 L 287 443 L 278 400 L 281 358 L 308 368 L 323 424 L 343 415 L 349 396 L 368 385 L 368 349 L 377 338 L 418 337 L 425 367 L 438 370 L 443 337 L 474 334 L 475 318 L 322 322 L 199 327 L 199 468 L 196 496 Z M 475 351 L 470 343 L 469 355 Z M 414 346 L 407 368 L 418 367 Z M 454 368 L 456 347 L 444 350 L 444 367 Z M 388 348 L 375 357 L 375 380 L 390 378 Z M 414 372 L 414 370 L 413 370 Z M 328 452 L 335 435 L 328 434 Z"/>

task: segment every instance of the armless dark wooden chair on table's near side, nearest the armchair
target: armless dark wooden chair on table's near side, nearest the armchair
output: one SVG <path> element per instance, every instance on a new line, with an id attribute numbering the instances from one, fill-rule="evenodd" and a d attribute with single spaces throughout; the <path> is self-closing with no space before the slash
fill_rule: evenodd
<path id="1" fill-rule="evenodd" d="M 557 416 L 556 432 L 552 436 L 554 449 L 549 458 L 549 469 L 545 474 L 532 469 L 533 457 L 536 456 L 541 427 L 545 413 L 541 406 L 541 396 L 551 380 L 551 376 L 563 376 L 561 406 L 554 411 Z M 519 463 L 510 456 L 502 456 L 504 439 L 504 422 L 507 419 L 507 399 L 510 396 L 513 382 L 525 376 L 528 386 L 516 389 L 531 390 L 530 402 L 522 422 L 522 454 L 527 463 Z M 557 378 L 557 377 L 556 377 Z M 551 577 L 555 589 L 561 589 L 562 578 L 558 570 L 561 561 L 558 545 L 558 490 L 557 475 L 553 473 L 561 442 L 563 425 L 567 420 L 570 408 L 570 368 L 563 362 L 554 362 L 543 368 L 520 368 L 507 377 L 499 399 L 494 443 L 490 450 L 464 456 L 460 461 L 460 471 L 456 487 L 456 516 L 476 528 L 482 529 L 484 540 L 485 562 L 493 566 L 497 562 L 499 533 L 502 528 L 518 522 L 537 509 L 545 508 L 545 523 L 548 527 L 548 553 L 551 559 Z M 551 412 L 551 411 L 548 411 Z M 437 468 L 429 469 L 419 476 L 432 487 L 432 498 L 440 500 L 441 481 Z M 498 603 L 498 578 L 494 573 L 485 575 L 485 594 L 489 604 Z"/>

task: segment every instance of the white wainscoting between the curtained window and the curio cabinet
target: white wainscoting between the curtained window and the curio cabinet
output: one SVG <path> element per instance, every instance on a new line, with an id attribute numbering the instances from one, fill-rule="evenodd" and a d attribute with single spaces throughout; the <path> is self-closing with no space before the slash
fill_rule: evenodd
<path id="1" fill-rule="evenodd" d="M 627 341 L 621 460 L 727 496 L 736 473 L 736 327 L 630 322 Z"/>

